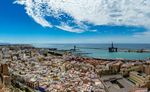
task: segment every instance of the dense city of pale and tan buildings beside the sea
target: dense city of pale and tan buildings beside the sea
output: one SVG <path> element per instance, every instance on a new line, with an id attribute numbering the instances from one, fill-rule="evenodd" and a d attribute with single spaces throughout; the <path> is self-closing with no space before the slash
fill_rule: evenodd
<path id="1" fill-rule="evenodd" d="M 47 90 L 46 92 L 53 92 L 53 89 L 57 89 L 67 92 L 67 90 L 81 91 L 87 88 L 86 90 L 102 90 L 98 92 L 116 92 L 111 91 L 107 85 L 107 81 L 111 83 L 110 79 L 123 81 L 115 84 L 118 87 L 124 85 L 125 89 L 119 90 L 131 90 L 136 85 L 131 87 L 125 85 L 131 84 L 128 80 L 128 78 L 132 78 L 130 72 L 137 73 L 149 65 L 147 60 L 75 56 L 72 54 L 72 50 L 36 48 L 32 45 L 4 45 L 0 48 L 2 51 L 1 65 L 9 67 L 9 77 L 13 80 L 12 85 L 15 87 L 14 84 L 19 82 L 24 86 L 17 88 L 28 88 L 33 91 L 42 89 Z M 147 77 L 145 78 L 147 79 Z M 113 87 L 113 85 L 112 82 L 109 86 Z M 89 87 L 92 89 L 88 89 Z"/>

